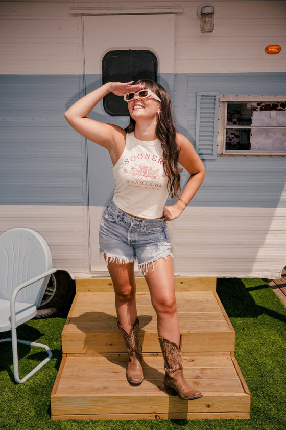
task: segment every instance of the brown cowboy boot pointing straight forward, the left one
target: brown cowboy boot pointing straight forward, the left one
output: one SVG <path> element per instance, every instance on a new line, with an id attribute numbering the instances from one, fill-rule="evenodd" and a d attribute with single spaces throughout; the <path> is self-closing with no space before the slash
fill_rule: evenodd
<path id="1" fill-rule="evenodd" d="M 136 318 L 130 333 L 128 334 L 123 327 L 117 322 L 120 328 L 124 341 L 126 343 L 127 352 L 129 355 L 128 368 L 126 371 L 126 378 L 132 385 L 140 385 L 143 382 L 143 369 L 142 369 L 142 344 L 139 336 L 139 320 Z"/>

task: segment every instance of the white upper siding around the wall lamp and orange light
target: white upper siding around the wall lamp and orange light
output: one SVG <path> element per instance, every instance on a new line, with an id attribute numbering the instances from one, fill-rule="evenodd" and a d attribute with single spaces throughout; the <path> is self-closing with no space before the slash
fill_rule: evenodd
<path id="1" fill-rule="evenodd" d="M 177 2 L 176 2 L 177 3 Z M 283 72 L 286 51 L 285 1 L 214 1 L 214 30 L 200 32 L 199 2 L 182 1 L 176 15 L 177 73 Z M 267 45 L 282 46 L 277 55 Z"/>

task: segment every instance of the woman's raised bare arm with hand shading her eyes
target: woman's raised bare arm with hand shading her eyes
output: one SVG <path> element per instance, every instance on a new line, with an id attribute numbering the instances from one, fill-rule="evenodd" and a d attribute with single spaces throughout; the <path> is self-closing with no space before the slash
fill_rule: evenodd
<path id="1" fill-rule="evenodd" d="M 132 85 L 132 82 L 106 83 L 70 106 L 65 112 L 65 118 L 78 133 L 92 142 L 104 146 L 110 152 L 112 146 L 116 143 L 116 138 L 119 135 L 122 136 L 122 129 L 116 125 L 93 120 L 88 118 L 87 115 L 110 92 L 118 96 L 123 96 L 125 93 L 139 91 L 140 89 L 141 85 Z"/>

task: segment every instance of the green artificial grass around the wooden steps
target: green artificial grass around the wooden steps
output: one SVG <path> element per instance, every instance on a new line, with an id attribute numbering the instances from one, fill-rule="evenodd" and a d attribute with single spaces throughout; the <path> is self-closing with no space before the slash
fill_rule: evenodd
<path id="1" fill-rule="evenodd" d="M 1 352 L 0 362 L 6 363 L 0 372 L 0 429 L 284 430 L 286 308 L 261 279 L 218 279 L 217 291 L 235 329 L 235 357 L 252 394 L 249 420 L 51 421 L 50 395 L 61 361 L 64 325 L 64 319 L 51 318 L 32 320 L 18 329 L 19 338 L 46 343 L 53 351 L 49 363 L 24 384 L 13 382 L 11 345 L 7 343 L 6 357 Z M 37 364 L 37 354 L 31 350 L 27 357 L 21 355 L 20 372 L 29 371 L 31 361 Z"/>

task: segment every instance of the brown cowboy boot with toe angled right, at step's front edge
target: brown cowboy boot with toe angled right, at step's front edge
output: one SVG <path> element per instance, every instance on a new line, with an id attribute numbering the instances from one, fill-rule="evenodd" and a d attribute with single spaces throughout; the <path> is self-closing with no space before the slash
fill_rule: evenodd
<path id="1" fill-rule="evenodd" d="M 173 342 L 159 337 L 161 350 L 163 353 L 165 377 L 164 386 L 166 392 L 171 396 L 176 394 L 183 400 L 193 400 L 202 397 L 202 393 L 190 386 L 183 375 L 182 367 L 182 335 L 180 335 L 179 348 Z"/>

